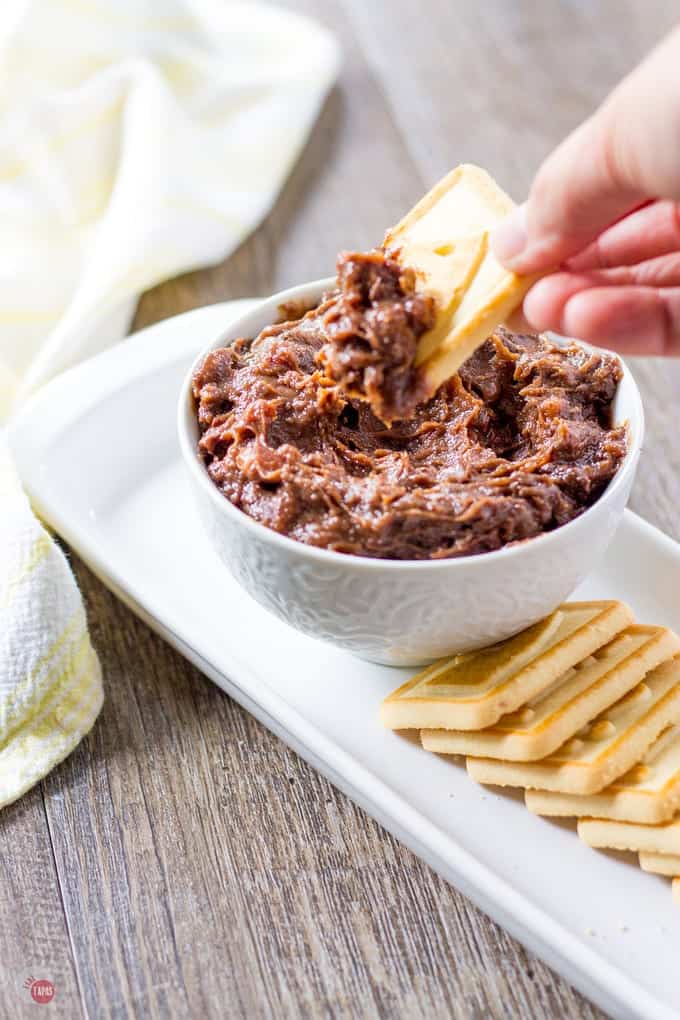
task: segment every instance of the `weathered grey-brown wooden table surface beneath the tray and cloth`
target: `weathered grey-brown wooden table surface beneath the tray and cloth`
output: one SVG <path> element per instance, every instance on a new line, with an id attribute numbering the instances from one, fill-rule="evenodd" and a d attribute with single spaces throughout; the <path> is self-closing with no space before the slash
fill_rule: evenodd
<path id="1" fill-rule="evenodd" d="M 674 0 L 303 0 L 345 64 L 260 230 L 136 327 L 325 275 L 452 165 L 516 198 L 671 26 Z M 636 362 L 633 497 L 680 539 L 680 365 Z M 674 407 L 675 413 L 669 413 Z M 601 1017 L 155 636 L 72 557 L 106 704 L 0 816 L 0 1016 Z"/>

